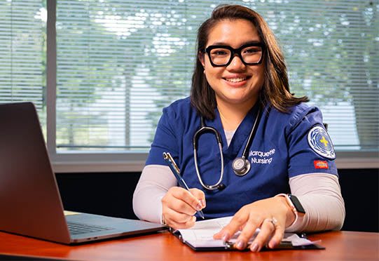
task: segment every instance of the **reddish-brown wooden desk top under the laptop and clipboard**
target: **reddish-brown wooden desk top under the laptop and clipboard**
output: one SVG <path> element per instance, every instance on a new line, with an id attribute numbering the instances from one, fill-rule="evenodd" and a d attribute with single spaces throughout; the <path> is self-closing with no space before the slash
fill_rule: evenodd
<path id="1" fill-rule="evenodd" d="M 0 232 L 0 253 L 65 260 L 379 260 L 379 233 L 326 232 L 309 238 L 322 239 L 326 250 L 195 252 L 168 232 L 64 246 Z"/>

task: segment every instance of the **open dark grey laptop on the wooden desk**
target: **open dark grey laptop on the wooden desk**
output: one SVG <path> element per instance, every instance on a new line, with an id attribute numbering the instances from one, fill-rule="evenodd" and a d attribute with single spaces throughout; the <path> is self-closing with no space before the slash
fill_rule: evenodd
<path id="1" fill-rule="evenodd" d="M 65 244 L 167 228 L 141 220 L 88 213 L 64 215 L 32 102 L 0 105 L 0 213 L 1 231 Z"/>

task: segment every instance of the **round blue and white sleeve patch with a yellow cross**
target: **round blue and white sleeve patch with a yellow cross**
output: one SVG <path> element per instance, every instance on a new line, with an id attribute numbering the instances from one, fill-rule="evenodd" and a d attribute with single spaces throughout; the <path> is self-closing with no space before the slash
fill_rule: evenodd
<path id="1" fill-rule="evenodd" d="M 308 144 L 314 152 L 327 159 L 336 159 L 333 143 L 322 126 L 315 126 L 308 133 Z"/>

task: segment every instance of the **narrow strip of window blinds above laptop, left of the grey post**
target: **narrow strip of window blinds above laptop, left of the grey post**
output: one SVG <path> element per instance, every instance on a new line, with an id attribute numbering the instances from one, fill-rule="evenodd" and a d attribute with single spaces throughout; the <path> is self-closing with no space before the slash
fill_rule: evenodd
<path id="1" fill-rule="evenodd" d="M 34 102 L 46 132 L 45 1 L 0 1 L 0 103 Z"/>

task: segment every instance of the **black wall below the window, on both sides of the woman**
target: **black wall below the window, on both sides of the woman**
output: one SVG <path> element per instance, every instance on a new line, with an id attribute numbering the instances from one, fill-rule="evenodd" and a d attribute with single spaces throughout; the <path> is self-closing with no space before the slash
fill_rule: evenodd
<path id="1" fill-rule="evenodd" d="M 343 230 L 379 232 L 379 170 L 338 170 L 346 218 Z M 132 195 L 140 173 L 57 173 L 66 210 L 136 219 Z"/>

